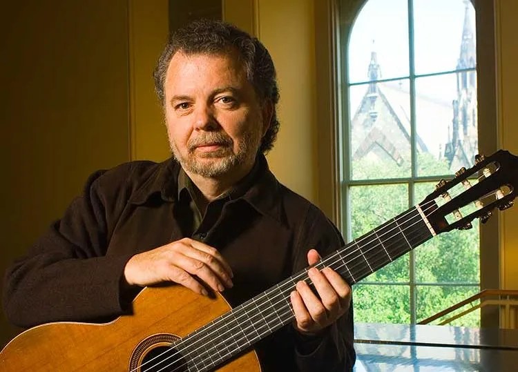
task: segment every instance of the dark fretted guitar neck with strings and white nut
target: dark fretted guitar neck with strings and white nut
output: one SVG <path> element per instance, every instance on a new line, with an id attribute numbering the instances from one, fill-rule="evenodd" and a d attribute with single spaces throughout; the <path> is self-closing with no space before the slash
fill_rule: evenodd
<path id="1" fill-rule="evenodd" d="M 316 267 L 334 269 L 349 284 L 362 280 L 434 235 L 423 209 L 410 208 L 327 255 Z M 307 271 L 292 275 L 173 344 L 189 371 L 209 371 L 294 320 L 289 294 L 300 280 L 311 285 Z"/>

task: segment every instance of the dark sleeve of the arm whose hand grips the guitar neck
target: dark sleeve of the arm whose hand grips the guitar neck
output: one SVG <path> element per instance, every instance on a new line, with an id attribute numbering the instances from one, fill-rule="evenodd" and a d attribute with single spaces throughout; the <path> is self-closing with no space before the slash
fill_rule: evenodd
<path id="1" fill-rule="evenodd" d="M 300 229 L 294 251 L 294 271 L 307 267 L 307 251 L 315 248 L 322 257 L 344 246 L 343 237 L 325 215 L 310 206 L 305 226 Z M 295 358 L 300 372 L 352 371 L 356 361 L 354 351 L 353 306 L 322 334 L 314 337 L 300 335 L 292 329 L 296 346 Z"/>

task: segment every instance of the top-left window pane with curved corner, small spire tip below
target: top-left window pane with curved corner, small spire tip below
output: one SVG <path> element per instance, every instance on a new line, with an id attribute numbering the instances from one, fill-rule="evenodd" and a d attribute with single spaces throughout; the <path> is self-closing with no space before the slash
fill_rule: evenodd
<path id="1" fill-rule="evenodd" d="M 370 0 L 358 14 L 349 39 L 349 82 L 370 80 L 373 57 L 378 79 L 408 76 L 407 0 Z"/>

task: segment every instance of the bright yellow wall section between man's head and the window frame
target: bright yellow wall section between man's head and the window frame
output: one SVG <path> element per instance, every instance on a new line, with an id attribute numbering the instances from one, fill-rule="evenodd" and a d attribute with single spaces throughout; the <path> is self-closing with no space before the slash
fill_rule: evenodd
<path id="1" fill-rule="evenodd" d="M 317 203 L 314 1 L 260 0 L 258 24 L 280 90 L 280 130 L 268 161 L 280 182 Z"/>

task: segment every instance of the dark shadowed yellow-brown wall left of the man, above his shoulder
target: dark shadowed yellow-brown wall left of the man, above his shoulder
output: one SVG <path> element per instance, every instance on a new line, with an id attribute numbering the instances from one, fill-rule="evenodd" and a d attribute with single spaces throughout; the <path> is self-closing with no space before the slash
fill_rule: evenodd
<path id="1" fill-rule="evenodd" d="M 98 168 L 129 159 L 126 0 L 0 12 L 0 281 Z M 0 346 L 15 329 L 0 317 Z"/>

